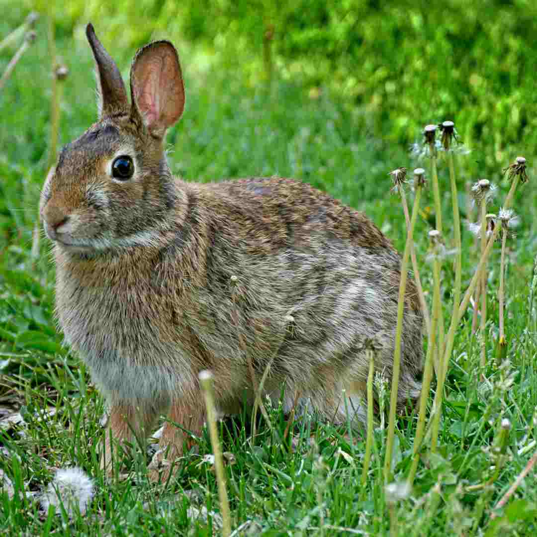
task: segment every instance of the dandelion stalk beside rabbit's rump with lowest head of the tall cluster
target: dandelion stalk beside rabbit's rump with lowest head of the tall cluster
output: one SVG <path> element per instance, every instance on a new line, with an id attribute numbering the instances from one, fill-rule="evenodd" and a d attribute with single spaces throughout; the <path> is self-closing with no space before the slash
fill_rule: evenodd
<path id="1" fill-rule="evenodd" d="M 412 465 L 408 476 L 408 482 L 413 484 L 418 469 L 419 451 L 422 449 L 422 441 L 425 434 L 425 413 L 427 411 L 427 401 L 429 400 L 429 389 L 433 376 L 433 356 L 436 344 L 436 332 L 438 326 L 439 310 L 440 310 L 440 233 L 437 229 L 429 231 L 432 246 L 432 263 L 433 263 L 433 307 L 431 331 L 429 332 L 429 342 L 427 343 L 427 354 L 425 356 L 425 365 L 423 369 L 422 393 L 419 397 L 419 412 L 418 424 L 416 426 L 416 436 L 412 447 Z M 437 390 L 438 393 L 438 390 Z"/>

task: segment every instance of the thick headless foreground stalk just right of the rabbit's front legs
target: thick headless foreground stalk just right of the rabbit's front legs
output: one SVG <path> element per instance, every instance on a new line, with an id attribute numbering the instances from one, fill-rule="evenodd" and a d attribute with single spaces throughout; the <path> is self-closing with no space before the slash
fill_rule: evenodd
<path id="1" fill-rule="evenodd" d="M 216 409 L 213 394 L 213 374 L 210 371 L 201 371 L 199 380 L 205 398 L 207 409 L 207 425 L 213 446 L 214 467 L 216 470 L 216 483 L 218 485 L 218 497 L 220 500 L 220 512 L 222 514 L 222 535 L 229 537 L 231 534 L 231 515 L 229 511 L 228 492 L 226 489 L 226 473 L 224 472 L 224 462 L 222 459 L 222 449 L 218 438 L 216 427 Z"/>

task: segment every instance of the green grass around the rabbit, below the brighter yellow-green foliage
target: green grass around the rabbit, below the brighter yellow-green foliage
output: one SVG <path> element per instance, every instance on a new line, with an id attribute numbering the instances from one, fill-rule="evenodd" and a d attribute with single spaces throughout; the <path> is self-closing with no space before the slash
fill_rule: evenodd
<path id="1" fill-rule="evenodd" d="M 5 13 L 0 35 L 6 35 L 26 15 L 14 5 Z M 97 29 L 99 22 L 105 25 L 104 21 L 94 22 Z M 46 174 L 50 120 L 50 62 L 44 20 L 39 21 L 36 30 L 37 41 L 20 60 L 0 94 L 0 412 L 7 415 L 18 411 L 24 419 L 19 425 L 0 429 L 0 469 L 15 489 L 11 498 L 5 490 L 0 492 L 0 532 L 217 534 L 219 502 L 214 468 L 206 457 L 212 453 L 208 432 L 200 439 L 199 453 L 180 460 L 179 479 L 168 489 L 152 486 L 144 478 L 146 461 L 140 450 L 126 458 L 130 474 L 124 480 L 107 482 L 98 468 L 95 446 L 103 434 L 99 425 L 103 402 L 77 357 L 62 346 L 62 336 L 56 330 L 54 270 L 47 245 L 41 244 L 38 259 L 31 257 L 32 229 Z M 96 118 L 89 47 L 78 27 L 74 35 L 72 39 L 67 32 L 57 32 L 57 54 L 70 71 L 63 87 L 60 144 L 81 134 Z M 108 45 L 105 36 L 103 39 Z M 120 53 L 121 68 L 126 74 L 127 54 L 114 50 L 113 43 L 110 49 L 113 55 Z M 219 60 L 199 55 L 193 45 L 183 43 L 180 49 L 187 108 L 184 119 L 168 136 L 175 173 L 188 180 L 204 181 L 273 173 L 308 181 L 366 211 L 403 251 L 404 217 L 397 197 L 389 194 L 391 182 L 387 173 L 402 165 L 411 169 L 418 163 L 429 169 L 429 163 L 412 159 L 407 144 L 393 141 L 393 133 L 379 132 L 374 111 L 357 107 L 337 92 L 311 93 L 298 78 L 274 79 L 270 89 L 252 87 L 244 84 L 240 76 L 234 76 L 229 65 L 219 69 Z M 0 55 L 2 71 L 9 62 L 9 52 L 4 50 Z M 132 52 L 129 50 L 128 55 Z M 421 87 L 423 84 L 426 78 Z M 419 89 L 416 83 L 405 98 L 419 100 L 421 109 L 424 104 Z M 436 109 L 426 112 L 427 116 L 420 118 L 422 126 L 450 119 L 439 118 Z M 459 125 L 464 132 L 463 113 Z M 417 130 L 416 140 L 419 139 Z M 519 141 L 524 147 L 524 140 Z M 465 138 L 465 142 L 472 146 L 471 139 Z M 494 212 L 509 187 L 500 166 L 484 168 L 484 163 L 495 161 L 498 140 L 477 142 L 480 154 L 458 156 L 455 162 L 463 218 L 470 218 L 463 194 L 466 183 L 474 183 L 486 173 L 498 184 L 500 192 L 491 206 Z M 280 408 L 267 407 L 274 432 L 260 420 L 255 441 L 250 438 L 248 416 L 219 423 L 223 451 L 228 453 L 225 469 L 231 523 L 234 529 L 243 528 L 240 534 L 535 534 L 537 483 L 532 473 L 491 520 L 492 508 L 525 468 L 537 442 L 537 349 L 532 328 L 535 310 L 534 304 L 528 304 L 528 296 L 534 294 L 530 285 L 537 251 L 537 238 L 532 233 L 537 218 L 531 183 L 535 177 L 534 155 L 507 142 L 502 153 L 508 155 L 504 166 L 517 154 L 524 154 L 530 176 L 530 183 L 520 187 L 514 199 L 521 225 L 516 240 L 508 245 L 508 361 L 496 364 L 494 360 L 498 338 L 498 246 L 488 264 L 489 317 L 484 334 L 487 367 L 483 371 L 479 366 L 480 344 L 471 336 L 469 310 L 455 336 L 437 453 L 427 454 L 424 450 L 424 460 L 410 494 L 398 495 L 396 488 L 395 492 L 389 490 L 389 498 L 385 497 L 386 427 L 379 425 L 374 431 L 372 460 L 364 488 L 360 483 L 365 434 L 357 436 L 317 423 L 314 418 L 299 419 L 288 441 L 277 442 L 273 435 L 284 438 L 287 422 Z M 449 173 L 442 156 L 438 171 L 443 235 L 451 244 Z M 424 191 L 423 197 L 424 209 L 418 216 L 414 236 L 420 274 L 430 302 L 433 278 L 425 257 L 427 231 L 434 227 L 432 192 Z M 474 238 L 465 229 L 462 250 L 464 291 L 477 263 Z M 452 259 L 445 259 L 442 267 L 443 317 L 449 319 L 455 281 Z M 433 383 L 429 408 L 434 389 Z M 47 414 L 50 409 L 54 413 Z M 500 426 L 504 419 L 511 423 L 507 433 Z M 409 473 L 415 429 L 416 413 L 396 423 L 392 456 L 396 482 L 405 480 Z M 494 450 L 500 434 L 507 436 L 505 459 L 501 461 Z M 96 495 L 88 512 L 72 521 L 53 512 L 41 512 L 31 493 L 45 488 L 56 468 L 72 465 L 82 467 L 95 482 Z M 496 471 L 497 468 L 500 470 Z M 204 518 L 204 507 L 214 516 Z M 198 512 L 200 517 L 196 516 Z"/>

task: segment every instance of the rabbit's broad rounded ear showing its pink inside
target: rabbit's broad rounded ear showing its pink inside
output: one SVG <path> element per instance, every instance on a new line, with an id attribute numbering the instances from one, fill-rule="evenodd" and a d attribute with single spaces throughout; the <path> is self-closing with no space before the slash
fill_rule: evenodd
<path id="1" fill-rule="evenodd" d="M 149 133 L 162 138 L 183 113 L 185 89 L 175 47 L 155 41 L 138 51 L 130 68 L 132 113 Z"/>

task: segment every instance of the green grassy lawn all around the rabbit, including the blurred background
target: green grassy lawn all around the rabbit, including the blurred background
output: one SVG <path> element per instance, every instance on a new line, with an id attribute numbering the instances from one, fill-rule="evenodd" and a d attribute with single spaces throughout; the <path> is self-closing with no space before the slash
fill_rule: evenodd
<path id="1" fill-rule="evenodd" d="M 386 3 L 383 8 L 376 2 L 342 2 L 343 13 L 335 5 L 315 4 L 307 11 L 301 4 L 304 13 L 299 8 L 273 12 L 277 25 L 267 63 L 262 37 L 250 39 L 257 35 L 257 3 L 251 4 L 255 9 L 244 19 L 244 28 L 242 2 L 229 13 L 224 8 L 231 4 L 201 3 L 212 19 L 200 19 L 195 3 L 179 9 L 170 2 L 142 2 L 146 11 L 134 14 L 123 4 L 115 11 L 99 10 L 92 1 L 56 6 L 56 54 L 69 74 L 57 83 L 55 149 L 97 118 L 93 60 L 84 38 L 90 17 L 125 78 L 137 46 L 151 35 L 169 37 L 182 60 L 187 104 L 182 120 L 168 133 L 168 154 L 172 171 L 186 180 L 294 177 L 365 211 L 403 252 L 405 220 L 388 172 L 405 166 L 411 177 L 412 169 L 425 168 L 429 186 L 414 244 L 429 306 L 433 271 L 428 233 L 438 211 L 431 158 L 420 156 L 423 127 L 452 119 L 459 132 L 453 153 L 463 220 L 463 291 L 479 259 L 478 241 L 466 225 L 478 219 L 471 185 L 483 178 L 496 185 L 487 210 L 498 213 L 510 187 L 503 170 L 518 155 L 527 159 L 529 181 L 519 185 L 513 200 L 520 222 L 506 249 L 506 357 L 497 359 L 498 243 L 488 263 L 487 322 L 473 334 L 470 305 L 456 327 L 438 449 L 432 453 L 426 437 L 413 487 L 407 490 L 404 482 L 417 410 L 397 420 L 390 477 L 396 487 L 386 488 L 384 482 L 389 385 L 381 380 L 375 389 L 384 394 L 385 414 L 375 425 L 365 486 L 365 431 L 337 429 L 311 417 L 296 419 L 289 432 L 281 408 L 269 407 L 270 424 L 259 420 L 252 438 L 247 415 L 226 418 L 219 426 L 235 535 L 534 535 L 533 470 L 505 506 L 497 504 L 537 450 L 537 202 L 532 195 L 537 8 L 522 0 L 475 2 L 465 10 L 459 0 L 445 2 L 442 9 L 426 9 L 422 2 Z M 0 40 L 31 7 L 0 0 Z M 134 24 L 144 16 L 146 26 Z M 208 432 L 199 440 L 198 452 L 179 461 L 178 478 L 168 487 L 148 483 L 140 449 L 126 457 L 122 477 L 113 482 L 99 469 L 103 400 L 78 357 L 62 345 L 54 320 L 49 244 L 43 235 L 39 242 L 34 237 L 51 153 L 45 11 L 35 31 L 37 39 L 0 90 L 0 470 L 13 485 L 13 494 L 6 484 L 0 492 L 0 533 L 219 534 Z M 0 50 L 0 76 L 20 42 Z M 454 234 L 446 155 L 439 153 L 438 171 L 449 251 Z M 406 188 L 412 206 L 415 194 L 410 185 Z M 454 259 L 442 259 L 446 332 Z M 430 411 L 436 387 L 433 380 Z M 40 492 L 57 468 L 71 466 L 81 467 L 95 485 L 88 510 L 72 517 L 61 508 L 43 511 Z"/>

